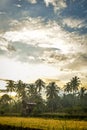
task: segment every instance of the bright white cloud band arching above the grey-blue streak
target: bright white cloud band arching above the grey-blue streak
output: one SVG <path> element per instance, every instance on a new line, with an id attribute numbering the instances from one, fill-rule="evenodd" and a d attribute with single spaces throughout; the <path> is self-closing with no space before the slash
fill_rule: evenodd
<path id="1" fill-rule="evenodd" d="M 4 33 L 3 38 L 11 42 L 22 42 L 42 48 L 57 48 L 63 53 L 77 52 L 85 49 L 87 37 L 78 32 L 65 31 L 56 21 L 27 18 L 20 21 L 13 20 L 11 29 Z M 79 46 L 78 46 L 79 45 Z"/>

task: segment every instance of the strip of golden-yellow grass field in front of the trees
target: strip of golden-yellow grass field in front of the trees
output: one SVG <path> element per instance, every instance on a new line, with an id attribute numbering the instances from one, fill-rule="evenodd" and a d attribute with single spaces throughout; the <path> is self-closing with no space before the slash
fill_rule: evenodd
<path id="1" fill-rule="evenodd" d="M 0 117 L 1 125 L 43 130 L 87 130 L 87 121 L 54 120 L 43 118 Z"/>

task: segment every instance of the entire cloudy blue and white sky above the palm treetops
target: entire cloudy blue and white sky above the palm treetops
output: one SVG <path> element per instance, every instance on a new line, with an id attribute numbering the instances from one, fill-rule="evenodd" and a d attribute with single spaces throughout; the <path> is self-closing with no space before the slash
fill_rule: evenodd
<path id="1" fill-rule="evenodd" d="M 0 79 L 74 76 L 87 84 L 87 0 L 0 0 Z"/>

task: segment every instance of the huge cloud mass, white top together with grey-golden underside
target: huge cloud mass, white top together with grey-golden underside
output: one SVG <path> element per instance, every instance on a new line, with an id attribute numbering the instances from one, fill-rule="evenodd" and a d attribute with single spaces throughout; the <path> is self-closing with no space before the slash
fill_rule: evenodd
<path id="1" fill-rule="evenodd" d="M 51 65 L 63 80 L 87 69 L 87 35 L 70 33 L 56 21 L 45 22 L 41 17 L 12 20 L 10 27 L 1 34 L 16 48 L 9 57 L 27 64 Z"/>

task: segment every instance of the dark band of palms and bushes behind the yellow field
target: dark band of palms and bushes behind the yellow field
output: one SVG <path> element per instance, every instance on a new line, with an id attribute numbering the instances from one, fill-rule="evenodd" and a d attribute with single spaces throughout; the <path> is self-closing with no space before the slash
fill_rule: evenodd
<path id="1" fill-rule="evenodd" d="M 0 97 L 0 115 L 61 117 L 62 113 L 63 117 L 68 114 L 68 118 L 69 114 L 81 118 L 87 115 L 87 89 L 77 76 L 62 89 L 55 82 L 47 84 L 41 79 L 32 84 L 7 80 L 6 91 L 15 92 L 16 96 Z"/>

